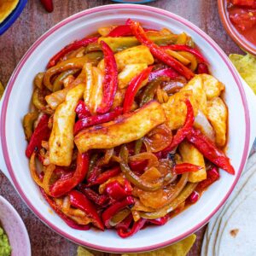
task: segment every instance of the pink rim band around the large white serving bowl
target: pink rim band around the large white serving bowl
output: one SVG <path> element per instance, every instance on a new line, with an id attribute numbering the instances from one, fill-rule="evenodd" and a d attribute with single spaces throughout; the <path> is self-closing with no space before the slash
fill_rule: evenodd
<path id="1" fill-rule="evenodd" d="M 51 224 L 49 222 L 49 220 L 47 218 L 45 218 L 38 211 L 38 209 L 36 209 L 35 207 L 32 206 L 32 203 L 26 198 L 26 195 L 23 193 L 23 190 L 22 190 L 20 184 L 17 182 L 17 179 L 15 177 L 15 172 L 13 170 L 13 167 L 11 166 L 11 162 L 10 162 L 10 158 L 9 158 L 9 152 L 8 152 L 8 148 L 7 148 L 5 119 L 6 119 L 6 114 L 7 114 L 9 96 L 10 96 L 11 90 L 12 90 L 14 84 L 15 84 L 15 79 L 17 78 L 17 76 L 20 73 L 20 69 L 23 67 L 26 60 L 30 57 L 30 55 L 32 55 L 32 52 L 38 47 L 39 44 L 41 44 L 44 41 L 45 38 L 49 37 L 50 34 L 55 32 L 56 30 L 58 30 L 61 26 L 64 26 L 64 25 L 66 25 L 67 23 L 69 23 L 73 20 L 77 20 L 77 19 L 79 19 L 80 17 L 82 17 L 84 15 L 90 15 L 90 14 L 94 14 L 94 13 L 100 12 L 100 11 L 118 10 L 118 9 L 143 9 L 143 10 L 151 11 L 153 13 L 157 13 L 157 14 L 160 14 L 160 15 L 165 15 L 165 16 L 173 19 L 173 20 L 177 20 L 178 22 L 182 23 L 185 26 L 188 26 L 194 32 L 199 34 L 201 36 L 201 38 L 204 38 L 207 41 L 207 44 L 210 44 L 212 46 L 212 48 L 215 49 L 218 52 L 218 55 L 221 56 L 224 63 L 227 65 L 227 67 L 229 67 L 230 73 L 232 74 L 233 78 L 235 79 L 236 84 L 237 84 L 238 89 L 239 89 L 240 94 L 241 94 L 241 100 L 242 100 L 242 105 L 243 105 L 245 119 L 246 119 L 245 143 L 244 143 L 244 147 L 243 147 L 241 165 L 239 167 L 237 177 L 236 177 L 234 183 L 231 185 L 230 190 L 224 196 L 224 199 L 219 203 L 218 207 L 216 207 L 212 211 L 211 214 L 209 214 L 203 221 L 201 221 L 200 224 L 196 224 L 191 229 L 184 232 L 182 235 L 177 236 L 175 238 L 172 238 L 171 240 L 160 242 L 158 244 L 154 244 L 152 246 L 147 246 L 147 247 L 116 248 L 116 247 L 97 246 L 97 245 L 91 244 L 90 242 L 82 241 L 82 240 L 80 240 L 80 239 L 78 239 L 74 236 L 71 236 L 67 232 L 64 232 L 64 231 L 60 230 L 57 226 L 55 226 L 55 224 Z M 197 26 L 193 25 L 188 20 L 185 20 L 185 19 L 183 19 L 182 17 L 180 17 L 178 15 L 174 15 L 171 12 L 163 10 L 163 9 L 158 9 L 158 8 L 154 8 L 154 7 L 150 7 L 150 6 L 144 6 L 144 5 L 134 5 L 134 4 L 105 5 L 105 6 L 100 6 L 100 7 L 96 7 L 96 8 L 93 8 L 93 9 L 87 9 L 87 10 L 81 11 L 78 14 L 72 15 L 72 16 L 68 17 L 67 19 L 62 20 L 60 23 L 58 23 L 55 26 L 53 26 L 52 28 L 50 28 L 48 32 L 45 32 L 44 35 L 42 35 L 40 38 L 38 38 L 38 40 L 34 44 L 32 44 L 31 48 L 26 51 L 26 54 L 20 60 L 18 66 L 15 68 L 15 71 L 14 71 L 14 73 L 12 74 L 12 76 L 9 80 L 9 84 L 8 84 L 5 96 L 3 98 L 3 108 L 2 108 L 2 113 L 1 113 L 1 124 L 0 125 L 1 125 L 1 128 L 0 128 L 1 130 L 0 131 L 1 131 L 1 134 L 3 135 L 3 136 L 1 136 L 1 142 L 2 142 L 2 147 L 3 147 L 3 156 L 4 156 L 4 160 L 6 162 L 6 166 L 9 170 L 9 174 L 10 174 L 10 176 L 11 176 L 11 178 L 12 178 L 14 184 L 15 184 L 15 188 L 19 192 L 23 201 L 26 202 L 26 205 L 32 210 L 32 212 L 34 212 L 38 216 L 38 218 L 41 221 L 44 222 L 44 224 L 47 224 L 52 230 L 55 230 L 55 232 L 57 232 L 61 236 L 66 237 L 70 241 L 73 241 L 73 242 L 75 242 L 77 244 L 80 244 L 84 247 L 90 247 L 90 248 L 98 250 L 98 251 L 111 252 L 111 253 L 138 253 L 138 252 L 152 251 L 152 250 L 158 249 L 160 247 L 166 247 L 166 246 L 168 246 L 172 243 L 175 243 L 177 241 L 182 240 L 186 236 L 189 236 L 190 234 L 194 233 L 196 230 L 199 230 L 203 225 L 207 224 L 207 222 L 210 220 L 210 218 L 212 218 L 212 216 L 216 212 L 218 212 L 218 209 L 220 207 L 222 207 L 224 202 L 228 199 L 228 197 L 229 197 L 230 193 L 232 192 L 232 190 L 234 189 L 239 177 L 241 176 L 241 172 L 242 172 L 243 167 L 245 166 L 245 163 L 246 163 L 246 160 L 247 160 L 247 153 L 248 153 L 248 149 L 249 149 L 249 139 L 250 139 L 250 117 L 249 117 L 248 106 L 247 106 L 247 98 L 245 96 L 245 92 L 243 90 L 241 80 L 239 79 L 239 76 L 236 73 L 235 67 L 233 67 L 233 65 L 229 61 L 228 57 L 224 54 L 224 51 L 219 48 L 218 44 L 216 44 L 212 40 L 212 38 L 210 38 L 205 32 L 202 32 L 200 28 L 198 28 Z"/>

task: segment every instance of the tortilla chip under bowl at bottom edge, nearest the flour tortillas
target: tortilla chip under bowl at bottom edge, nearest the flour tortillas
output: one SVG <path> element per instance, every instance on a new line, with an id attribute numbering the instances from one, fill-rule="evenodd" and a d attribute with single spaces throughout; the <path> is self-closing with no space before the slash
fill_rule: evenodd
<path id="1" fill-rule="evenodd" d="M 196 236 L 193 234 L 186 237 L 182 241 L 172 244 L 169 247 L 161 248 L 153 252 L 148 253 L 129 253 L 122 254 L 122 256 L 185 256 L 189 253 L 189 250 L 195 242 Z"/>

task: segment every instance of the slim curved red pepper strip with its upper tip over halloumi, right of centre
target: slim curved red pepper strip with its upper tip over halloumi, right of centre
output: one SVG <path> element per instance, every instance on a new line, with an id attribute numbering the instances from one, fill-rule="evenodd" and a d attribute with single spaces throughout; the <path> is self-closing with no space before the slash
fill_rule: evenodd
<path id="1" fill-rule="evenodd" d="M 189 132 L 193 128 L 193 124 L 195 120 L 193 107 L 189 99 L 186 99 L 185 103 L 187 106 L 187 115 L 185 119 L 185 124 L 183 125 L 182 128 L 177 130 L 177 133 L 172 138 L 172 143 L 163 150 L 164 154 L 167 154 L 168 152 L 172 151 L 173 148 L 177 147 L 177 145 L 183 141 L 183 139 L 189 134 Z"/>

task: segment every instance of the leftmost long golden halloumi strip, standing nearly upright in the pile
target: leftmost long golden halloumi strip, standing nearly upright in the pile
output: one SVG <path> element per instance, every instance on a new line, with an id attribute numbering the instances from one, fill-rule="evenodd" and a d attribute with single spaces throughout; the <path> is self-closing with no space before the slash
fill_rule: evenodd
<path id="1" fill-rule="evenodd" d="M 49 137 L 49 161 L 57 166 L 70 166 L 73 153 L 75 108 L 84 94 L 84 84 L 67 92 L 65 102 L 56 108 Z"/>

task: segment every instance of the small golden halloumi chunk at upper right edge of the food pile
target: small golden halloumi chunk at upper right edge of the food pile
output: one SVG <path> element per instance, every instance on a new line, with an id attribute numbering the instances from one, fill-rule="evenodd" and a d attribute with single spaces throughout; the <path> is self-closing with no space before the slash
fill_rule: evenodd
<path id="1" fill-rule="evenodd" d="M 222 90 L 224 90 L 224 84 L 215 79 L 211 75 L 204 73 L 200 75 L 203 81 L 203 89 L 207 94 L 207 100 L 212 100 L 214 97 L 218 97 Z"/>

